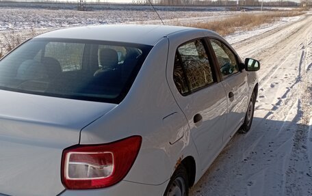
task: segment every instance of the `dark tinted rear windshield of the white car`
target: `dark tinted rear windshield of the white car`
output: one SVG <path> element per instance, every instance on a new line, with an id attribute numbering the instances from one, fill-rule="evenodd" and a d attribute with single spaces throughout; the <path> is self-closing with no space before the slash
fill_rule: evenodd
<path id="1" fill-rule="evenodd" d="M 0 89 L 119 103 L 151 46 L 34 38 L 0 61 Z"/>

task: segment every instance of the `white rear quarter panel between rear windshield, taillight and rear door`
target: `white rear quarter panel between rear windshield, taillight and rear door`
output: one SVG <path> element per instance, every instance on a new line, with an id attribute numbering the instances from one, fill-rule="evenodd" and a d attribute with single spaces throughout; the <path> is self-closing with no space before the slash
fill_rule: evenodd
<path id="1" fill-rule="evenodd" d="M 179 158 L 196 152 L 189 147 L 187 122 L 166 81 L 167 55 L 168 39 L 163 38 L 144 61 L 126 98 L 81 131 L 81 144 L 142 136 L 138 158 L 124 179 L 127 181 L 153 185 L 168 182 Z M 177 115 L 168 118 L 172 113 Z"/>

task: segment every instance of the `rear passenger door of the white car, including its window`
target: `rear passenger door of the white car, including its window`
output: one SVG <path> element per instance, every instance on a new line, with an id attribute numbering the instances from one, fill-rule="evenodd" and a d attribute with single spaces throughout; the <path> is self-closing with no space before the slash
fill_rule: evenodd
<path id="1" fill-rule="evenodd" d="M 226 95 L 218 83 L 216 68 L 207 55 L 204 39 L 179 45 L 174 59 L 168 59 L 169 85 L 174 98 L 190 126 L 192 139 L 200 158 L 200 167 L 207 169 L 222 146 L 226 124 Z"/>

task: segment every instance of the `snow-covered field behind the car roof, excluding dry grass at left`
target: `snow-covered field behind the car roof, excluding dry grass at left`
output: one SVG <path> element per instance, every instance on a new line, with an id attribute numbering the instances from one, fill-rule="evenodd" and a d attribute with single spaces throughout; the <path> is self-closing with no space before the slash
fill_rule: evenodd
<path id="1" fill-rule="evenodd" d="M 159 20 L 157 14 L 151 6 L 145 7 L 129 7 L 129 8 L 112 8 L 103 7 L 92 12 L 80 12 L 75 10 L 72 5 L 71 9 L 58 9 L 55 7 L 25 7 L 21 8 L 15 4 L 0 3 L 0 31 L 12 31 L 23 29 L 55 29 L 62 27 L 75 27 L 81 25 L 103 25 L 114 23 L 133 23 L 146 20 Z M 91 5 L 90 5 L 91 6 Z M 158 8 L 159 15 L 163 20 L 174 20 L 175 18 L 209 18 L 220 16 L 228 16 L 239 12 L 225 11 L 225 8 L 210 8 L 211 10 L 194 9 L 186 10 L 177 8 L 176 10 Z M 159 23 L 159 21 L 158 21 Z"/>

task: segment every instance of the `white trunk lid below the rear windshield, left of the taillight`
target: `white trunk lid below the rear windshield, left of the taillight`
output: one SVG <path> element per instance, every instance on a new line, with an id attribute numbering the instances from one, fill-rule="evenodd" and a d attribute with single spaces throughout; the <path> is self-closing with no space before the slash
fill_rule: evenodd
<path id="1" fill-rule="evenodd" d="M 64 148 L 79 143 L 80 130 L 114 107 L 116 104 L 1 91 L 0 193 L 62 192 Z"/>

